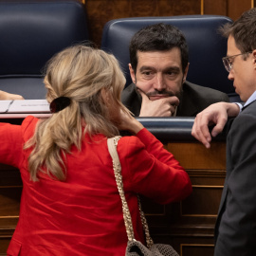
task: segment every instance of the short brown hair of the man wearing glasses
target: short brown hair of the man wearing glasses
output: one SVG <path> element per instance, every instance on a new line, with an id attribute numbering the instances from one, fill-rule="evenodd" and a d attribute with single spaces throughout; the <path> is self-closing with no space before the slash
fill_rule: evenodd
<path id="1" fill-rule="evenodd" d="M 224 25 L 220 31 L 227 38 L 232 36 L 242 53 L 256 49 L 256 9 L 245 11 L 239 19 Z"/>

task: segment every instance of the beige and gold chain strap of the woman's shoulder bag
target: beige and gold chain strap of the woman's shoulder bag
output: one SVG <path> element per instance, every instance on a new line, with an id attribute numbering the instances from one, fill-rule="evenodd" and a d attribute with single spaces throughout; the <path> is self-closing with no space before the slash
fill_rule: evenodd
<path id="1" fill-rule="evenodd" d="M 108 138 L 107 145 L 108 145 L 108 150 L 109 150 L 109 153 L 110 153 L 110 155 L 112 157 L 112 161 L 113 161 L 113 169 L 114 169 L 114 174 L 116 177 L 116 182 L 117 182 L 119 195 L 120 195 L 120 199 L 121 199 L 121 203 L 122 203 L 122 212 L 123 212 L 123 219 L 124 219 L 126 233 L 128 236 L 128 240 L 132 241 L 132 240 L 135 240 L 135 234 L 134 234 L 131 213 L 130 213 L 126 198 L 124 196 L 124 191 L 123 191 L 121 166 L 120 166 L 120 162 L 119 162 L 119 155 L 117 152 L 119 138 L 120 137 Z M 141 209 L 141 203 L 140 203 L 140 199 L 138 196 L 137 196 L 137 203 L 138 203 L 138 209 L 139 209 L 139 213 L 140 213 L 142 227 L 144 229 L 145 236 L 146 236 L 147 247 L 151 247 L 154 244 L 154 242 L 150 236 L 147 220 L 146 220 L 144 212 Z"/>

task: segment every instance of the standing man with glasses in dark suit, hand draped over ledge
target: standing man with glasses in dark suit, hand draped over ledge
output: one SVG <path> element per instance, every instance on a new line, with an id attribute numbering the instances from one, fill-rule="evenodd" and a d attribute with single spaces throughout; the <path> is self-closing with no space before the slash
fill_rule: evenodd
<path id="1" fill-rule="evenodd" d="M 236 92 L 245 101 L 216 103 L 198 114 L 192 135 L 210 147 L 211 135 L 222 131 L 228 117 L 227 176 L 215 227 L 215 256 L 256 255 L 256 9 L 223 27 L 228 39 L 223 58 Z"/>

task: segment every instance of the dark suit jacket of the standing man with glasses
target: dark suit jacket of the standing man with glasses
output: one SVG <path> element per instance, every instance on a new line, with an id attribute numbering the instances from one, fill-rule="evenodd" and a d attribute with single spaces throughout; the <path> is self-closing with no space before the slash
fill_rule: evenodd
<path id="1" fill-rule="evenodd" d="M 256 101 L 233 119 L 227 176 L 215 227 L 215 256 L 256 255 Z"/>

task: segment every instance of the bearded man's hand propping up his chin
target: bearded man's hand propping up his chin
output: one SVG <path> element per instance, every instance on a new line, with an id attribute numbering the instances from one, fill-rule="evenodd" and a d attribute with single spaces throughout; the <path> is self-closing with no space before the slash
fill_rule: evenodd
<path id="1" fill-rule="evenodd" d="M 147 95 L 138 89 L 142 97 L 141 109 L 139 117 L 172 117 L 176 112 L 179 100 L 175 96 L 149 100 Z"/>

